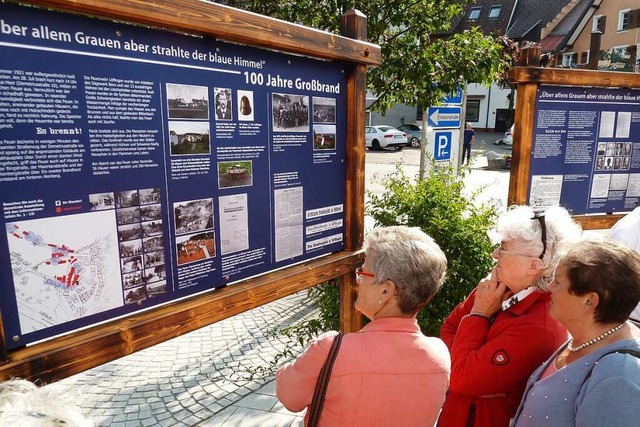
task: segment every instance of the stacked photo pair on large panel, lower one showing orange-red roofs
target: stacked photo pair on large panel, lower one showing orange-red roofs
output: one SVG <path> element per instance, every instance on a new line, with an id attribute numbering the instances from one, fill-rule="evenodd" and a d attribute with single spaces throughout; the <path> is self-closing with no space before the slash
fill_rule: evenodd
<path id="1" fill-rule="evenodd" d="M 215 258 L 213 199 L 176 202 L 173 213 L 178 265 Z"/>

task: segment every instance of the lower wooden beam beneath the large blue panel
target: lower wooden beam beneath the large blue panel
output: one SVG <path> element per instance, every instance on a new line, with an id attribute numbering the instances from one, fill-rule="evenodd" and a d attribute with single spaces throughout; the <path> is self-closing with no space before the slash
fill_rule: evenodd
<path id="1" fill-rule="evenodd" d="M 349 274 L 364 254 L 339 252 L 9 352 L 0 380 L 57 381 Z"/>

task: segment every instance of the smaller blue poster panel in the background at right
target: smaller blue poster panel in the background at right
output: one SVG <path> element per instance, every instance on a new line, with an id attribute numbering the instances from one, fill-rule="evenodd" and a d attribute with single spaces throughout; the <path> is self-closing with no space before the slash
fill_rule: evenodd
<path id="1" fill-rule="evenodd" d="M 640 205 L 640 90 L 541 85 L 528 194 L 572 214 Z"/>

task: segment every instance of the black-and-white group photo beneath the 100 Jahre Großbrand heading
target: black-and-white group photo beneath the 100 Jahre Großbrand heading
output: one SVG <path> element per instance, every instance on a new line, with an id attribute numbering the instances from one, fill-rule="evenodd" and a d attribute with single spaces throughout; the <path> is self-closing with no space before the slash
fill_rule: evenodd
<path id="1" fill-rule="evenodd" d="M 274 132 L 309 132 L 309 97 L 274 93 L 272 115 Z"/>

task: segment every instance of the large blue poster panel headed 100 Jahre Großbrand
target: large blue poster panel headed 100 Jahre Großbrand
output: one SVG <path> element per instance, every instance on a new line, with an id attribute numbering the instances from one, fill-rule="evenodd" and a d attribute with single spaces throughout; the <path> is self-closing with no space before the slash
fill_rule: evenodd
<path id="1" fill-rule="evenodd" d="M 344 66 L 0 4 L 15 348 L 344 249 Z"/>

